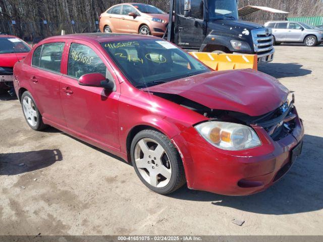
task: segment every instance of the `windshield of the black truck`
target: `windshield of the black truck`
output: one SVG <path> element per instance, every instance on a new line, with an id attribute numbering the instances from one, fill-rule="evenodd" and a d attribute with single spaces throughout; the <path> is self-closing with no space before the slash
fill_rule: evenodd
<path id="1" fill-rule="evenodd" d="M 209 0 L 209 19 L 232 19 L 238 20 L 238 10 L 236 0 Z"/>

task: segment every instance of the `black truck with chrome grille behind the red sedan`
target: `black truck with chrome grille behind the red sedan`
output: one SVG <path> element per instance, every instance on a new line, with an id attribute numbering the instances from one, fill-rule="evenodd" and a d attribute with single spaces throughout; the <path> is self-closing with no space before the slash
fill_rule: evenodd
<path id="1" fill-rule="evenodd" d="M 237 0 L 171 0 L 167 38 L 191 51 L 257 54 L 259 63 L 275 52 L 271 29 L 239 20 Z"/>

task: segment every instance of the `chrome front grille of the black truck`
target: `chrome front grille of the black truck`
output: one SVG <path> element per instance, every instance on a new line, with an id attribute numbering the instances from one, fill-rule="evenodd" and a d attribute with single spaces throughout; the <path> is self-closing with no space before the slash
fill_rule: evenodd
<path id="1" fill-rule="evenodd" d="M 270 52 L 273 47 L 273 35 L 271 29 L 253 29 L 251 30 L 254 51 L 257 54 Z"/>

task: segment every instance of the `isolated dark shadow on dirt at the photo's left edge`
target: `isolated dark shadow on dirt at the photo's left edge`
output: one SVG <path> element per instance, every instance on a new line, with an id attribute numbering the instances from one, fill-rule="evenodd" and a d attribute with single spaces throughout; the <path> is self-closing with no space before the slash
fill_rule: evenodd
<path id="1" fill-rule="evenodd" d="M 0 154 L 0 175 L 39 170 L 63 159 L 59 149 Z"/>

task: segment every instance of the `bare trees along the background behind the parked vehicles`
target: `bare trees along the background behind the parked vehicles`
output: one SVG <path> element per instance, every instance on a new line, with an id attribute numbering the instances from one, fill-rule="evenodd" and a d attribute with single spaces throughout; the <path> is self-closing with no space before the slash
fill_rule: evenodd
<path id="1" fill-rule="evenodd" d="M 1 0 L 0 31 L 13 32 L 24 38 L 31 35 L 55 35 L 61 29 L 67 33 L 92 32 L 97 29 L 100 14 L 120 3 L 145 3 L 169 11 L 169 0 Z M 293 16 L 322 16 L 322 0 L 240 0 L 239 8 L 258 5 L 290 12 Z M 270 19 L 262 11 L 246 17 L 248 20 Z M 14 22 L 13 22 L 14 21 Z M 72 24 L 73 23 L 73 24 Z"/>

